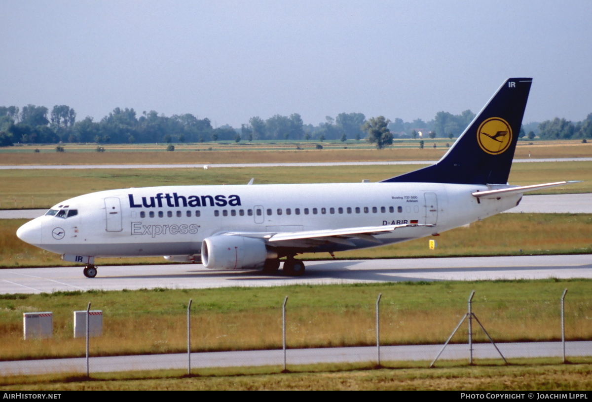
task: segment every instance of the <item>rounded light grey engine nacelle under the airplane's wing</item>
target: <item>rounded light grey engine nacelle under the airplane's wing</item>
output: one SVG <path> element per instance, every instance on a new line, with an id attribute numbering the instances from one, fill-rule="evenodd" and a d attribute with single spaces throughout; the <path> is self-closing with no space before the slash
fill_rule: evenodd
<path id="1" fill-rule="evenodd" d="M 201 261 L 209 269 L 260 269 L 278 254 L 265 241 L 243 236 L 212 236 L 201 244 Z"/>

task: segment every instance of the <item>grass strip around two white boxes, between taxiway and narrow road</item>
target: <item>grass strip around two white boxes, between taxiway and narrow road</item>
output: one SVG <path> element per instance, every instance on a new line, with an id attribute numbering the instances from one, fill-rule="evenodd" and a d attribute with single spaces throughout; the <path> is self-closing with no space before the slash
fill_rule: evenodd
<path id="1" fill-rule="evenodd" d="M 592 339 L 590 280 L 390 282 L 275 288 L 72 291 L 0 296 L 1 360 L 83 356 L 73 339 L 72 311 L 88 302 L 103 311 L 103 336 L 92 356 L 186 351 L 186 307 L 192 305 L 192 350 L 281 349 L 281 306 L 287 304 L 290 348 L 375 344 L 375 302 L 381 299 L 381 344 L 443 343 L 475 290 L 473 311 L 496 342 L 561 339 L 559 301 L 569 289 L 568 340 Z M 53 312 L 53 339 L 23 340 L 22 313 Z M 466 326 L 453 342 L 465 343 Z M 487 342 L 475 330 L 475 342 Z"/>

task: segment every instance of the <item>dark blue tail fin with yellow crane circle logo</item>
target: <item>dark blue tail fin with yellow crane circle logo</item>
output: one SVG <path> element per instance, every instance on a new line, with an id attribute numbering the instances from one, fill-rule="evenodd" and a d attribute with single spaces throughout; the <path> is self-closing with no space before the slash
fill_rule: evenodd
<path id="1" fill-rule="evenodd" d="M 436 164 L 383 182 L 506 184 L 532 78 L 510 78 Z"/>

